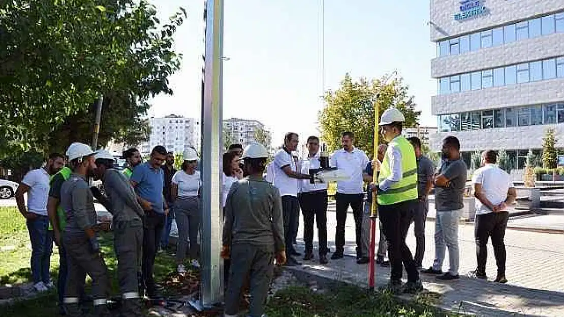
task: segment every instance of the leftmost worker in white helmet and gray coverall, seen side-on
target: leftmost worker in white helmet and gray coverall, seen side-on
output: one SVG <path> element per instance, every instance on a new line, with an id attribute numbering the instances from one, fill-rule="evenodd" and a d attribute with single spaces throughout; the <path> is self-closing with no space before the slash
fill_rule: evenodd
<path id="1" fill-rule="evenodd" d="M 63 234 L 63 245 L 67 251 L 68 278 L 64 305 L 69 316 L 80 316 L 80 291 L 84 273 L 92 278 L 92 298 L 96 316 L 110 316 L 107 296 L 110 291 L 108 270 L 96 237 L 96 211 L 94 197 L 87 177 L 94 176 L 96 164 L 90 146 L 73 143 L 67 150 L 72 174 L 61 187 L 61 206 L 67 215 L 67 226 Z"/>

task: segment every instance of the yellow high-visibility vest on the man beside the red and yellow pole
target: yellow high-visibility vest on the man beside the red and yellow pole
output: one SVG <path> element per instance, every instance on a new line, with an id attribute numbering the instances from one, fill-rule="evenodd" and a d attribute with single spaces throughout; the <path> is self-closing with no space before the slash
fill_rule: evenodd
<path id="1" fill-rule="evenodd" d="M 386 191 L 378 190 L 378 204 L 391 205 L 408 200 L 417 199 L 417 158 L 415 157 L 415 150 L 413 146 L 403 136 L 397 136 L 392 140 L 388 146 L 387 151 L 390 151 L 391 146 L 399 148 L 402 153 L 402 178 L 399 182 L 395 182 Z M 382 182 L 391 175 L 390 169 L 390 155 L 384 157 L 384 162 L 380 167 L 380 175 L 378 182 Z"/>

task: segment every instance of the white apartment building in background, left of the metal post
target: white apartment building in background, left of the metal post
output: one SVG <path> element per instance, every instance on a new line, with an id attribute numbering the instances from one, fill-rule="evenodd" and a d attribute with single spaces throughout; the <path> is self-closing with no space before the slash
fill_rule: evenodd
<path id="1" fill-rule="evenodd" d="M 139 149 L 142 155 L 150 154 L 157 145 L 177 154 L 182 154 L 190 146 L 200 151 L 200 120 L 171 114 L 164 118 L 150 118 L 149 123 L 151 137 L 142 143 Z"/>

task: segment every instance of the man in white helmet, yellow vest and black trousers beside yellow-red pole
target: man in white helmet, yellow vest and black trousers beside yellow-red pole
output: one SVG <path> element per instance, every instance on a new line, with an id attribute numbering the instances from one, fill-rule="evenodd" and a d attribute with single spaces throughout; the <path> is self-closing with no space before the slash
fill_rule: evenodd
<path id="1" fill-rule="evenodd" d="M 423 288 L 411 251 L 406 244 L 407 231 L 417 207 L 417 159 L 413 146 L 402 136 L 406 119 L 396 108 L 389 108 L 380 118 L 380 133 L 388 148 L 378 175 L 378 213 L 388 244 L 392 291 L 402 286 L 403 267 L 407 272 L 406 293 Z"/>

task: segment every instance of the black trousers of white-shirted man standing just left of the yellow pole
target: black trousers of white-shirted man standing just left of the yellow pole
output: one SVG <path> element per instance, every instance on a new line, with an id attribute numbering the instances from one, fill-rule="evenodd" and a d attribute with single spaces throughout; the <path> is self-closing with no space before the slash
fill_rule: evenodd
<path id="1" fill-rule="evenodd" d="M 352 208 L 352 216 L 354 217 L 355 233 L 356 233 L 356 255 L 361 254 L 362 239 L 362 213 L 364 194 L 341 194 L 335 195 L 337 209 L 337 230 L 335 233 L 336 252 L 343 252 L 345 248 L 345 222 L 347 220 L 347 209 L 349 205 Z"/>

